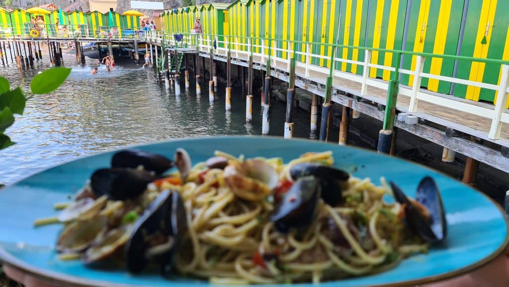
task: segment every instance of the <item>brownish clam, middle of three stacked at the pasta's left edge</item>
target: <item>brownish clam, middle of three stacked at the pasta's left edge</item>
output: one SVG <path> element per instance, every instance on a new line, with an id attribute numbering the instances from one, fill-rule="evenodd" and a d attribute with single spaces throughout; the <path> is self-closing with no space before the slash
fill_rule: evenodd
<path id="1" fill-rule="evenodd" d="M 87 220 L 77 220 L 67 225 L 56 241 L 59 252 L 81 252 L 87 249 L 106 228 L 106 218 L 96 216 Z"/>

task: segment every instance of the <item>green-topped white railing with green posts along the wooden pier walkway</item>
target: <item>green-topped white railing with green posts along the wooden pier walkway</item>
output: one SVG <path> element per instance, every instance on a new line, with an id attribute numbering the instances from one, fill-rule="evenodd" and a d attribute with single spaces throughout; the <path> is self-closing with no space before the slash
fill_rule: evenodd
<path id="1" fill-rule="evenodd" d="M 187 34 L 187 33 L 179 33 L 179 32 L 162 32 L 166 35 L 172 34 Z M 414 51 L 406 51 L 406 50 L 394 50 L 394 49 L 384 49 L 384 48 L 371 48 L 364 46 L 351 46 L 351 45 L 341 45 L 341 44 L 332 44 L 332 43 L 318 43 L 318 42 L 307 42 L 307 41 L 298 41 L 298 40 L 283 40 L 283 39 L 273 39 L 273 38 L 265 38 L 265 37 L 249 37 L 249 36 L 232 36 L 232 35 L 219 35 L 219 34 L 187 34 L 188 37 L 192 37 L 191 35 L 199 35 L 195 37 L 199 37 L 199 43 L 196 45 L 198 51 L 207 51 L 207 49 L 212 49 L 213 40 L 217 40 L 217 50 L 223 50 L 225 55 L 230 55 L 230 53 L 235 53 L 236 57 L 239 57 L 240 53 L 244 53 L 247 55 L 256 55 L 261 57 L 261 64 L 265 64 L 265 60 L 267 63 L 265 65 L 265 69 L 270 73 L 271 63 L 274 62 L 283 62 L 288 64 L 288 68 L 291 65 L 291 58 L 297 57 L 299 62 L 296 63 L 298 67 L 305 67 L 304 76 L 309 76 L 308 70 L 315 70 L 321 72 L 323 74 L 328 75 L 327 77 L 327 89 L 326 89 L 326 98 L 325 101 L 331 98 L 330 88 L 332 86 L 332 77 L 339 76 L 343 77 L 347 80 L 354 81 L 361 84 L 360 96 L 365 96 L 367 87 L 373 86 L 376 88 L 389 90 L 391 94 L 394 94 L 394 98 L 391 96 L 387 96 L 387 107 L 386 109 L 392 109 L 395 107 L 395 95 L 402 94 L 404 96 L 410 97 L 410 105 L 408 111 L 410 113 L 414 113 L 417 111 L 417 99 L 421 99 L 423 101 L 427 101 L 433 103 L 434 105 L 444 106 L 450 109 L 459 110 L 462 112 L 474 114 L 477 116 L 489 118 L 492 120 L 492 124 L 490 127 L 490 132 L 488 137 L 490 139 L 500 139 L 500 127 L 501 123 L 509 123 L 509 114 L 505 113 L 505 103 L 507 102 L 507 91 L 508 91 L 508 81 L 509 81 L 509 61 L 497 60 L 497 59 L 482 59 L 482 58 L 473 58 L 473 57 L 465 57 L 465 56 L 456 56 L 456 55 L 439 55 L 439 54 L 431 54 L 431 53 L 418 53 Z M 224 41 L 219 41 L 218 37 L 222 37 Z M 247 41 L 243 41 L 247 39 Z M 257 42 L 257 40 L 261 40 L 261 45 L 253 44 Z M 280 42 L 288 43 L 288 47 L 284 47 L 286 45 L 280 46 Z M 298 45 L 301 45 L 302 49 L 305 48 L 305 51 L 299 50 Z M 331 47 L 332 53 L 328 51 L 327 56 L 316 55 L 313 54 L 313 50 L 311 49 L 315 46 L 320 47 Z M 221 47 L 222 46 L 222 47 Z M 253 47 L 256 47 L 257 51 L 261 53 L 255 53 L 253 51 Z M 344 59 L 340 55 L 335 55 L 335 50 L 338 48 L 347 48 L 347 49 L 356 49 L 356 50 L 364 50 L 364 60 L 363 61 L 354 61 L 349 59 Z M 378 65 L 371 63 L 371 54 L 374 51 L 390 53 L 392 55 L 393 61 L 391 61 L 390 65 Z M 212 52 L 214 53 L 214 52 Z M 217 53 L 217 52 L 216 52 Z M 279 54 L 283 53 L 283 54 Z M 296 56 L 300 55 L 300 56 Z M 400 68 L 401 63 L 401 55 L 409 55 L 415 56 L 417 60 L 417 65 L 412 70 Z M 224 55 L 223 55 L 224 56 Z M 281 57 L 282 56 L 282 57 Z M 302 57 L 302 58 L 300 58 Z M 327 61 L 325 65 L 313 65 L 310 64 L 310 60 L 314 59 L 323 59 Z M 422 71 L 423 62 L 426 58 L 442 58 L 442 59 L 452 59 L 458 61 L 471 61 L 471 62 L 481 62 L 487 64 L 497 64 L 502 67 L 502 74 L 500 79 L 500 84 L 487 84 L 483 82 L 476 82 L 470 80 L 464 80 L 458 77 L 451 76 L 442 76 L 431 73 L 424 73 Z M 302 59 L 302 61 L 300 61 Z M 305 60 L 304 60 L 305 59 Z M 351 73 L 342 70 L 341 68 L 336 68 L 335 63 L 351 63 L 358 65 L 363 68 L 362 75 L 358 75 L 356 73 Z M 422 63 L 420 63 L 422 62 Z M 420 64 L 419 64 L 420 63 Z M 369 76 L 369 71 L 371 68 L 383 69 L 390 71 L 391 81 L 377 81 L 372 79 Z M 399 74 L 407 74 L 413 77 L 412 82 L 409 84 L 412 86 L 410 88 L 399 84 Z M 420 81 L 423 77 L 427 77 L 428 79 L 434 79 L 439 81 L 445 81 L 449 83 L 457 83 L 464 85 L 471 85 L 486 89 L 494 90 L 498 93 L 498 97 L 495 102 L 495 109 L 489 109 L 482 106 L 472 105 L 468 102 L 459 101 L 456 99 L 441 97 L 439 95 L 433 93 L 426 93 L 420 91 Z M 391 88 L 392 85 L 392 88 Z M 500 96 L 501 95 L 501 96 Z M 390 106 L 390 107 L 389 107 Z M 387 118 L 387 117 L 386 117 Z M 390 127 L 393 118 L 388 117 L 384 121 L 384 126 Z"/>

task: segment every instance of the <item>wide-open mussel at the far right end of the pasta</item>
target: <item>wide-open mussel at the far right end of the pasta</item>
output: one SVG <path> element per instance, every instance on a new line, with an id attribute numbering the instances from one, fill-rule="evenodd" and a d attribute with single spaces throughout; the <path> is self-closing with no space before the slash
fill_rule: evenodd
<path id="1" fill-rule="evenodd" d="M 440 191 L 433 178 L 427 176 L 420 181 L 415 201 L 409 200 L 392 181 L 390 187 L 394 198 L 405 205 L 406 221 L 417 236 L 431 243 L 439 243 L 445 239 L 447 236 L 445 210 Z"/>

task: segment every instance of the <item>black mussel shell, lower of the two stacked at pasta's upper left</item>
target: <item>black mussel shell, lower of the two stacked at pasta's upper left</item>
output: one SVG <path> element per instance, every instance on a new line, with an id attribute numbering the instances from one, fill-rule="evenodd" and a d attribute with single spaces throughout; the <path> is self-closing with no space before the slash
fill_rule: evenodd
<path id="1" fill-rule="evenodd" d="M 154 174 L 144 170 L 102 168 L 92 174 L 90 186 L 97 196 L 106 194 L 112 200 L 126 200 L 142 194 L 156 179 Z"/>

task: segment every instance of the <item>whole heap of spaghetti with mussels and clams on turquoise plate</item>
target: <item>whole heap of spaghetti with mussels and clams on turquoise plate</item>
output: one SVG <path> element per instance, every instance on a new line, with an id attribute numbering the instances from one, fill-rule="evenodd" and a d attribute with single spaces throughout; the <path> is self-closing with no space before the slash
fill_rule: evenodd
<path id="1" fill-rule="evenodd" d="M 375 186 L 334 168 L 330 151 L 288 163 L 221 151 L 210 156 L 193 165 L 181 148 L 173 159 L 119 151 L 74 201 L 55 204 L 58 217 L 35 225 L 64 223 L 56 242 L 62 260 L 215 284 L 383 272 L 446 237 L 431 177 L 412 199 L 384 178 Z"/>

